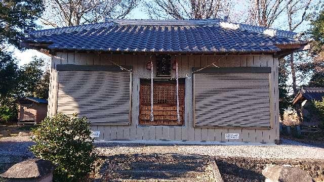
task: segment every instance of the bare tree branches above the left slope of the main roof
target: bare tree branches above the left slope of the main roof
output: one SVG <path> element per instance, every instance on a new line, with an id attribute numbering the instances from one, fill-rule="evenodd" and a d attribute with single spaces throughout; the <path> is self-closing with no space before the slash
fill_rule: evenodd
<path id="1" fill-rule="evenodd" d="M 45 0 L 43 24 L 61 27 L 99 22 L 104 18 L 125 18 L 139 0 Z"/>

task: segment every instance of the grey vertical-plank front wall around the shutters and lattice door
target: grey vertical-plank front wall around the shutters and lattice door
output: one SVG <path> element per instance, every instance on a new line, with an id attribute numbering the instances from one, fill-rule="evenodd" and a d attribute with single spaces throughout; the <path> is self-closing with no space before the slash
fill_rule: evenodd
<path id="1" fill-rule="evenodd" d="M 56 114 L 57 108 L 57 71 L 58 64 L 75 65 L 132 65 L 132 122 L 130 126 L 93 125 L 93 130 L 100 131 L 99 140 L 156 140 L 156 141 L 218 141 L 218 142 L 252 142 L 274 143 L 279 139 L 279 95 L 278 95 L 278 60 L 272 55 L 227 56 L 177 56 L 179 77 L 186 77 L 185 86 L 185 120 L 184 126 L 138 126 L 139 114 L 139 77 L 149 78 L 146 69 L 149 56 L 143 55 L 111 55 L 87 53 L 57 53 L 52 56 L 48 115 Z M 220 59 L 220 60 L 219 60 Z M 109 61 L 110 60 L 110 61 Z M 154 64 L 155 60 L 153 60 Z M 270 120 L 271 129 L 246 128 L 194 128 L 192 112 L 192 67 L 204 67 L 211 63 L 219 67 L 271 67 L 270 83 Z M 155 67 L 155 64 L 154 64 Z M 154 72 L 155 72 L 154 68 Z M 154 73 L 155 75 L 155 73 Z M 175 76 L 172 70 L 171 76 Z M 225 133 L 239 133 L 239 140 L 225 140 Z"/>

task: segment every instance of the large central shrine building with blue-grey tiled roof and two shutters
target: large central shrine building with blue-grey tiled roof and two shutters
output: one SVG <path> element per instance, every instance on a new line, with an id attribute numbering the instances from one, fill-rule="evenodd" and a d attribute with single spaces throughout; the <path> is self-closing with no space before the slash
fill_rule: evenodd
<path id="1" fill-rule="evenodd" d="M 52 56 L 48 115 L 87 116 L 98 140 L 275 143 L 278 59 L 294 32 L 208 20 L 111 20 L 34 31 Z"/>

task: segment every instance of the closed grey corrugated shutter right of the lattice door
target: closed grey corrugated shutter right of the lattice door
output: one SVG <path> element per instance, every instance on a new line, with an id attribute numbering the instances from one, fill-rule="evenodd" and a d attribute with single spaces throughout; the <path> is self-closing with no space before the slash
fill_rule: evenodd
<path id="1" fill-rule="evenodd" d="M 270 127 L 268 73 L 195 73 L 198 127 Z"/>

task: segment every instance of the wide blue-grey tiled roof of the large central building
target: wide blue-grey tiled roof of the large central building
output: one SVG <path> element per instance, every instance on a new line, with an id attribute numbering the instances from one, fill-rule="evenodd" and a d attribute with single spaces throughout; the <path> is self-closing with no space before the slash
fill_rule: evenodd
<path id="1" fill-rule="evenodd" d="M 305 44 L 296 33 L 208 20 L 106 20 L 34 31 L 23 41 L 75 51 L 226 53 L 278 52 L 278 44 Z"/>

